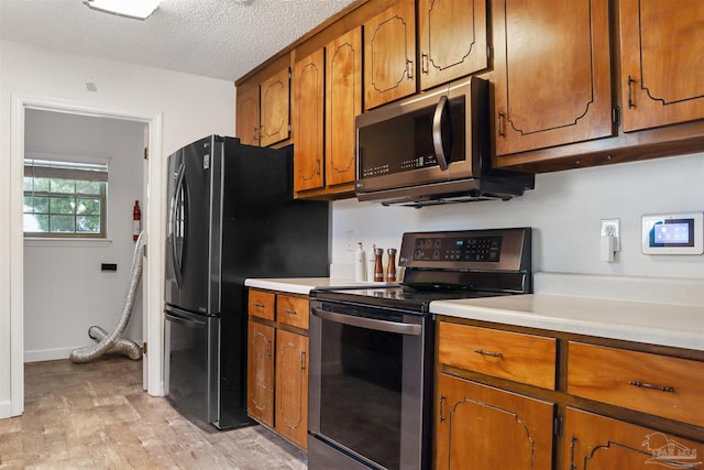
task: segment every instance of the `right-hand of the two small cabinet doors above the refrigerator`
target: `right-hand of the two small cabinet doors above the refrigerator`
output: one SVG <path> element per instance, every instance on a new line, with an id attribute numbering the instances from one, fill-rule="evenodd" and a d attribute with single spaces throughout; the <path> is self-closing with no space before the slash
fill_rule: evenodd
<path id="1" fill-rule="evenodd" d="M 284 68 L 261 85 L 262 146 L 288 139 L 290 76 Z"/>

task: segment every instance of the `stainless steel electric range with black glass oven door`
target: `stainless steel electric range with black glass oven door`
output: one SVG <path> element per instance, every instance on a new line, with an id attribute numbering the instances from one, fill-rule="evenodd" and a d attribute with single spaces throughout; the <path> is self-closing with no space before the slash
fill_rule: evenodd
<path id="1" fill-rule="evenodd" d="M 430 303 L 531 293 L 531 230 L 404 233 L 398 264 L 400 285 L 311 292 L 311 470 L 431 467 Z"/>

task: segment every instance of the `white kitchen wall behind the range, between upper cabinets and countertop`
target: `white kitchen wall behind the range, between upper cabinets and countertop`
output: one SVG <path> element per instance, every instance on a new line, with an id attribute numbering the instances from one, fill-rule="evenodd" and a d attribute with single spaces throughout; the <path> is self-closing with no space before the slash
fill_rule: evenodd
<path id="1" fill-rule="evenodd" d="M 365 248 L 400 244 L 405 231 L 532 227 L 534 270 L 704 282 L 702 255 L 645 255 L 644 214 L 704 211 L 704 154 L 536 176 L 536 189 L 509 201 L 413 209 L 355 200 L 333 206 L 332 261 L 351 264 L 349 231 Z M 618 218 L 622 252 L 598 261 L 600 220 Z"/>

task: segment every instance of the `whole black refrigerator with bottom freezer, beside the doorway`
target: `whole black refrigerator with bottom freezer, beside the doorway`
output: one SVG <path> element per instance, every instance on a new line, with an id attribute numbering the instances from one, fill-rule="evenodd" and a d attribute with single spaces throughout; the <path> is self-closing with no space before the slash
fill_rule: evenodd
<path id="1" fill-rule="evenodd" d="M 329 274 L 330 207 L 293 199 L 293 149 L 211 135 L 168 157 L 166 397 L 219 429 L 246 414 L 248 277 Z"/>

